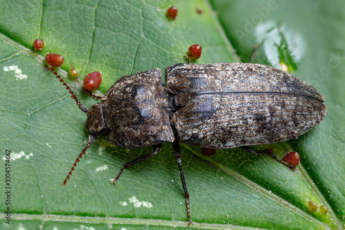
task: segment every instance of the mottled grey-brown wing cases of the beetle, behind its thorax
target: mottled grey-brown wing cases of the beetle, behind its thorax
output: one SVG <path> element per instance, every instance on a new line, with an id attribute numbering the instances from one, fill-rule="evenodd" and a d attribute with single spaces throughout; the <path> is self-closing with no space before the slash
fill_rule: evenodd
<path id="1" fill-rule="evenodd" d="M 210 149 L 297 138 L 326 116 L 315 87 L 265 65 L 170 65 L 166 88 L 179 140 Z"/>

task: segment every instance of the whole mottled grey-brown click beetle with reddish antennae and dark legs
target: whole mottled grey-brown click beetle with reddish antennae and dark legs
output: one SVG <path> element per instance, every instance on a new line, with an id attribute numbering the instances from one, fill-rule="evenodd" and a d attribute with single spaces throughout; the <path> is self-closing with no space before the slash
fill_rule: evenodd
<path id="1" fill-rule="evenodd" d="M 79 103 L 57 75 L 79 108 L 86 112 L 90 132 L 88 145 L 75 160 L 63 185 L 97 136 L 108 136 L 109 143 L 129 149 L 153 147 L 150 154 L 125 163 L 112 182 L 119 179 L 126 167 L 159 153 L 161 143 L 173 143 L 191 224 L 179 141 L 208 149 L 243 147 L 279 160 L 272 151 L 258 152 L 247 145 L 297 138 L 320 123 L 327 112 L 324 96 L 315 87 L 265 65 L 181 63 L 167 67 L 165 74 L 166 85 L 161 83 L 158 68 L 122 76 L 101 98 L 101 103 L 90 109 Z"/>

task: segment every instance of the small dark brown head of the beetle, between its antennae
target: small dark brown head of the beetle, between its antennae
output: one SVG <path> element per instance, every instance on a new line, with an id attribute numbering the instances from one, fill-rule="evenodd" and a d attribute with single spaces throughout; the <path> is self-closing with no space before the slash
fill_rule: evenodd
<path id="1" fill-rule="evenodd" d="M 104 121 L 103 105 L 92 105 L 86 114 L 88 115 L 86 128 L 90 134 L 93 136 L 107 136 L 109 132 L 108 127 L 106 127 L 106 121 Z"/>

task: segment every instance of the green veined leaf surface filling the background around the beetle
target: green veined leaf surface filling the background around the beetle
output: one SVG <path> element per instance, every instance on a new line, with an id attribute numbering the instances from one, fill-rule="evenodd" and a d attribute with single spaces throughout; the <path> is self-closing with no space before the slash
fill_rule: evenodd
<path id="1" fill-rule="evenodd" d="M 166 17 L 170 6 L 178 9 L 174 21 Z M 109 180 L 121 165 L 152 148 L 124 149 L 97 138 L 62 185 L 87 144 L 86 114 L 48 70 L 44 56 L 64 56 L 57 72 L 90 107 L 99 101 L 81 92 L 81 80 L 66 78 L 70 67 L 79 70 L 81 79 L 101 72 L 97 94 L 104 94 L 123 75 L 155 67 L 164 72 L 168 65 L 184 63 L 195 43 L 202 46 L 195 63 L 248 62 L 258 44 L 255 63 L 285 63 L 322 92 L 328 114 L 298 140 L 257 147 L 272 147 L 280 158 L 286 151 L 298 151 L 301 163 L 295 172 L 238 148 L 206 157 L 199 148 L 183 145 L 194 222 L 190 228 L 344 228 L 344 7 L 339 0 L 4 1 L 1 229 L 186 227 L 184 191 L 169 143 L 157 156 L 126 169 L 114 186 Z M 41 52 L 32 49 L 37 38 L 45 43 Z M 12 152 L 10 171 L 6 150 Z M 308 202 L 323 205 L 328 213 L 311 211 Z"/>

